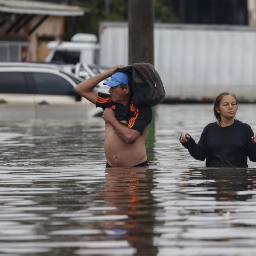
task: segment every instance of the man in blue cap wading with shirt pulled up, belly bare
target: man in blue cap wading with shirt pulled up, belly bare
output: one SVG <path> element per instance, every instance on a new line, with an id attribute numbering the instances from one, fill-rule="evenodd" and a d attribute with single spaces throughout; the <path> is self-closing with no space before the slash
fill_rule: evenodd
<path id="1" fill-rule="evenodd" d="M 102 74 L 82 81 L 76 92 L 104 110 L 106 167 L 148 166 L 145 140 L 152 119 L 151 107 L 134 108 L 129 102 L 129 82 L 125 73 L 116 73 L 116 65 Z M 93 90 L 99 82 L 111 76 L 104 84 L 109 93 Z M 127 106 L 129 105 L 129 106 Z M 138 102 L 139 105 L 139 102 Z"/>

